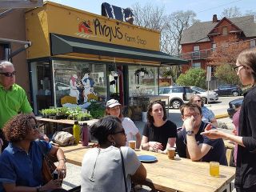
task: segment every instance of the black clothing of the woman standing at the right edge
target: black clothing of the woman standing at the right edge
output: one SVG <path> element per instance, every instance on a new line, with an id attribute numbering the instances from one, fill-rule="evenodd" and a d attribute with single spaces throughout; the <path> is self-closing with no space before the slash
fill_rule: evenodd
<path id="1" fill-rule="evenodd" d="M 245 147 L 238 145 L 234 185 L 249 188 L 256 185 L 256 86 L 248 90 L 242 102 L 238 135 Z"/>

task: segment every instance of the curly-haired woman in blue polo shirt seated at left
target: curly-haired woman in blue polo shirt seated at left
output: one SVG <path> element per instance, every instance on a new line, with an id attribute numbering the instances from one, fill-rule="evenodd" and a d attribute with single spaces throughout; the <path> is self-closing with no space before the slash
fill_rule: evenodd
<path id="1" fill-rule="evenodd" d="M 9 146 L 0 155 L 0 191 L 66 191 L 60 179 L 44 183 L 42 178 L 43 154 L 58 158 L 58 174 L 66 176 L 65 156 L 57 146 L 38 138 L 37 121 L 32 115 L 18 114 L 3 128 Z"/>

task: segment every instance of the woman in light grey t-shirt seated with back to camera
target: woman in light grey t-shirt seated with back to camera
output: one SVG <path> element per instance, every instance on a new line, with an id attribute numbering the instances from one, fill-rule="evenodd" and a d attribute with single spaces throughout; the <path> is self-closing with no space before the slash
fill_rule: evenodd
<path id="1" fill-rule="evenodd" d="M 99 147 L 88 150 L 82 160 L 82 192 L 130 191 L 131 180 L 139 183 L 146 179 L 145 167 L 134 150 L 126 146 L 119 118 L 101 118 L 90 127 L 90 134 L 98 140 Z"/>

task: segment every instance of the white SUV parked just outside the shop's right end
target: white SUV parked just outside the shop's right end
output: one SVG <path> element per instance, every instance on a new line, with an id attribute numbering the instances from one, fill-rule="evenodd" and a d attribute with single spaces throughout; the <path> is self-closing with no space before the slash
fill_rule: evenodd
<path id="1" fill-rule="evenodd" d="M 174 109 L 179 109 L 184 102 L 188 102 L 194 94 L 189 86 L 167 86 L 159 88 L 160 95 L 169 96 L 169 104 Z"/>

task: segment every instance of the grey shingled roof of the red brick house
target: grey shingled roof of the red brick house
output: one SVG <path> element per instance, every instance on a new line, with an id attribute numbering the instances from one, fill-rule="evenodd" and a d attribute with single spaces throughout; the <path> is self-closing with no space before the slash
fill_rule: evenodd
<path id="1" fill-rule="evenodd" d="M 256 37 L 256 23 L 254 23 L 254 16 L 244 16 L 239 18 L 228 18 L 235 26 L 238 26 L 247 38 Z M 219 22 L 222 22 L 219 21 Z M 190 42 L 209 42 L 208 34 L 219 22 L 196 22 L 190 26 L 182 34 L 181 44 Z"/>

